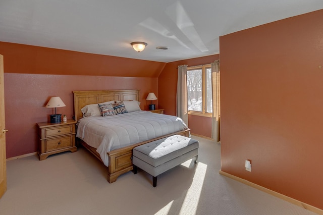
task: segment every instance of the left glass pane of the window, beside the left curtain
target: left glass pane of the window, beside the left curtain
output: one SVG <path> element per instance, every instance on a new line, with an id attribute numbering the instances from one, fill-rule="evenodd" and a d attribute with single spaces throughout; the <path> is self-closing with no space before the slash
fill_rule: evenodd
<path id="1" fill-rule="evenodd" d="M 202 112 L 202 70 L 187 71 L 187 103 L 189 111 Z"/>

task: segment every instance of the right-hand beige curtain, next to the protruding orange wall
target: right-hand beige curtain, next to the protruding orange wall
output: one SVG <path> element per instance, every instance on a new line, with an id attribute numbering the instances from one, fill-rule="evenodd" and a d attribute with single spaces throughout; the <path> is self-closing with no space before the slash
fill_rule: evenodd
<path id="1" fill-rule="evenodd" d="M 211 63 L 212 70 L 212 139 L 216 142 L 220 138 L 220 61 Z"/>

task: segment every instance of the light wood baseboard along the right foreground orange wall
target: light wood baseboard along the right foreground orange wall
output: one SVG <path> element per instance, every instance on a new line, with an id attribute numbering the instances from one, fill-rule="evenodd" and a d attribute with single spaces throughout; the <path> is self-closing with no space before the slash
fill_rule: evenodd
<path id="1" fill-rule="evenodd" d="M 315 212 L 315 213 L 317 213 L 317 214 L 323 214 L 323 210 L 322 210 L 322 209 L 319 209 L 319 208 L 314 207 L 314 206 L 312 206 L 312 205 L 309 205 L 309 204 L 307 204 L 307 203 L 304 203 L 304 202 L 301 202 L 301 201 L 299 201 L 299 200 L 293 199 L 293 198 L 291 198 L 291 197 L 285 196 L 285 195 L 283 195 L 283 194 L 281 194 L 281 193 L 278 193 L 278 192 L 275 192 L 275 191 L 273 191 L 273 190 L 267 189 L 267 188 L 265 188 L 265 187 L 262 187 L 262 186 L 260 186 L 260 185 L 254 184 L 254 183 L 252 183 L 252 182 L 250 182 L 250 181 L 247 181 L 247 180 L 245 180 L 245 179 L 242 179 L 242 178 L 239 178 L 239 177 L 237 177 L 237 176 L 231 175 L 231 174 L 229 174 L 229 173 L 223 172 L 223 171 L 221 171 L 221 170 L 219 171 L 219 173 L 220 173 L 221 175 L 223 175 L 223 176 L 226 176 L 226 177 L 228 177 L 228 178 L 231 178 L 231 179 L 234 179 L 234 180 L 239 181 L 239 182 L 241 182 L 241 183 L 244 183 L 244 184 L 246 184 L 246 185 L 248 185 L 248 186 L 250 186 L 250 187 L 256 188 L 256 189 L 258 189 L 258 190 L 261 190 L 261 191 L 263 191 L 263 192 L 265 192 L 265 193 L 268 193 L 268 194 L 271 194 L 271 195 L 276 196 L 276 197 L 278 197 L 278 198 L 281 198 L 281 199 L 283 199 L 283 200 L 285 200 L 285 201 L 288 201 L 288 202 L 290 202 L 290 203 L 296 204 L 297 206 L 303 207 L 303 208 L 305 208 L 305 209 L 307 209 L 307 210 L 310 210 L 310 211 L 312 211 L 312 212 Z"/>

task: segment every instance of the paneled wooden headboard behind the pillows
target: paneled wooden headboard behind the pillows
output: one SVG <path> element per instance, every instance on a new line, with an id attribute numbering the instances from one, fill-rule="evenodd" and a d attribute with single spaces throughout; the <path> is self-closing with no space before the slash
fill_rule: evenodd
<path id="1" fill-rule="evenodd" d="M 97 104 L 105 101 L 139 101 L 139 90 L 90 90 L 73 91 L 74 94 L 74 116 L 75 120 L 83 118 L 81 108 L 87 104 Z"/>

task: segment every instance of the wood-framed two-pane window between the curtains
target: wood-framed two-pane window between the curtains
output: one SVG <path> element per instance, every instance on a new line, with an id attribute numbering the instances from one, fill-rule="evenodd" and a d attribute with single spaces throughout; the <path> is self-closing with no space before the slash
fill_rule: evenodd
<path id="1" fill-rule="evenodd" d="M 187 68 L 187 104 L 189 114 L 212 116 L 211 65 Z"/>

